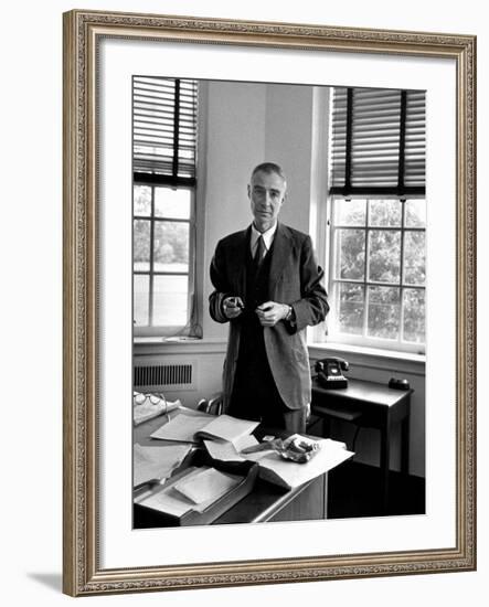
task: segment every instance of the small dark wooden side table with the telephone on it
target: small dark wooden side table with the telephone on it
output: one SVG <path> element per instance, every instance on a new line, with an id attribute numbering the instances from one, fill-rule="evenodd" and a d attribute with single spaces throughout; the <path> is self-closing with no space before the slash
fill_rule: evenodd
<path id="1" fill-rule="evenodd" d="M 389 510 L 389 469 L 391 434 L 401 424 L 401 471 L 408 473 L 410 466 L 410 409 L 413 390 L 400 391 L 384 384 L 349 380 L 348 387 L 327 390 L 312 380 L 311 412 L 319 417 L 334 417 L 327 409 L 354 411 L 360 414 L 354 424 L 376 428 L 381 434 L 381 472 L 384 511 Z"/>

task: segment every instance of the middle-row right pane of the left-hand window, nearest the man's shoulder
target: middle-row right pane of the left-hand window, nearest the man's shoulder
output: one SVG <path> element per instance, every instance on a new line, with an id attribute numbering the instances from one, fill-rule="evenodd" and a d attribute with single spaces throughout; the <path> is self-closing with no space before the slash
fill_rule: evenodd
<path id="1" fill-rule="evenodd" d="M 155 271 L 189 271 L 189 224 L 155 222 Z"/>

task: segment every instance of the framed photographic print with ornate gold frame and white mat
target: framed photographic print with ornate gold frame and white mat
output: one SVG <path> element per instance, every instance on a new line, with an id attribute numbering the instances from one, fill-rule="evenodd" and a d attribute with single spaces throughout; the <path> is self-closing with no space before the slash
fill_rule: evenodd
<path id="1" fill-rule="evenodd" d="M 64 15 L 64 590 L 476 566 L 469 35 Z"/>

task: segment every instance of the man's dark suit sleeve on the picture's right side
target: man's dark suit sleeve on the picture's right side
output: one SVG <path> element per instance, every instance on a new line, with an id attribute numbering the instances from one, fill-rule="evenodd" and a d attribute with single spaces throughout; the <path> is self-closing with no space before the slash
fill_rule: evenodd
<path id="1" fill-rule="evenodd" d="M 305 238 L 300 251 L 299 271 L 301 298 L 293 302 L 295 319 L 287 323 L 291 333 L 319 324 L 329 311 L 328 296 L 321 285 L 325 271 L 318 266 L 310 236 Z"/>

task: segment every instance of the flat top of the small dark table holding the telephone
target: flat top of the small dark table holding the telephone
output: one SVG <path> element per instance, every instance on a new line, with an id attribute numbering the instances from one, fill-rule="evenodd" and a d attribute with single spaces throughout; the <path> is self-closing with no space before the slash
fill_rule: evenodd
<path id="1" fill-rule="evenodd" d="M 348 387 L 326 388 L 312 380 L 312 393 L 318 395 L 328 395 L 341 400 L 361 401 L 372 405 L 392 407 L 400 401 L 412 394 L 413 390 L 394 390 L 387 385 L 378 382 L 366 382 L 364 380 L 348 380 Z"/>

